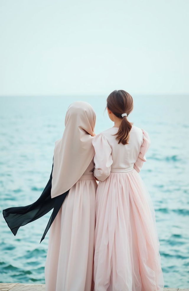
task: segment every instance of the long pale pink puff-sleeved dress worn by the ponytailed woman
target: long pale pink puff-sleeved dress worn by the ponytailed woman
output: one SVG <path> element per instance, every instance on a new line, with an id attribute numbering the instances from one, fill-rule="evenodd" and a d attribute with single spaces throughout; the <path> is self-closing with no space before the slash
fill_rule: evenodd
<path id="1" fill-rule="evenodd" d="M 96 193 L 95 291 L 163 290 L 159 240 L 151 198 L 138 172 L 149 148 L 147 132 L 133 126 L 127 145 L 112 127 L 93 140 Z"/>

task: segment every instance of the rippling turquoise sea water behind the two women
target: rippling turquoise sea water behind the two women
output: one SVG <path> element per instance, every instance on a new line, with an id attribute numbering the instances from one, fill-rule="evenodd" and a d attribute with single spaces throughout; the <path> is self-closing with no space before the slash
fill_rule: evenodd
<path id="1" fill-rule="evenodd" d="M 189 287 L 189 96 L 133 96 L 130 121 L 144 128 L 151 147 L 141 177 L 156 211 L 165 287 Z M 87 101 L 97 114 L 96 133 L 113 124 L 103 115 L 106 96 L 0 98 L 0 282 L 44 283 L 50 213 L 14 237 L 2 209 L 34 202 L 52 166 L 69 104 Z"/>

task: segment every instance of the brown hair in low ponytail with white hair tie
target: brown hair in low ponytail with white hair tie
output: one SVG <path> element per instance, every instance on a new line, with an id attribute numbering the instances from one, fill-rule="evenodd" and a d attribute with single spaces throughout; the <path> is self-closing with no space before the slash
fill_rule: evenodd
<path id="1" fill-rule="evenodd" d="M 112 113 L 121 118 L 122 122 L 119 126 L 116 140 L 123 145 L 128 144 L 129 132 L 132 128 L 132 123 L 128 121 L 127 117 L 122 117 L 121 114 L 127 113 L 127 116 L 133 110 L 133 98 L 124 90 L 115 90 L 107 97 L 107 108 Z"/>

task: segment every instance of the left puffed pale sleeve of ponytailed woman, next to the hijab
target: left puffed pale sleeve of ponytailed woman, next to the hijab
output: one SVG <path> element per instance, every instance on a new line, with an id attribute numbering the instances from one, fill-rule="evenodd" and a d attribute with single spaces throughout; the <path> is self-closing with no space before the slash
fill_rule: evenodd
<path id="1" fill-rule="evenodd" d="M 94 176 L 99 181 L 104 181 L 108 176 L 110 176 L 112 156 L 112 149 L 108 144 L 104 135 L 99 134 L 95 136 L 92 140 L 94 146 Z"/>

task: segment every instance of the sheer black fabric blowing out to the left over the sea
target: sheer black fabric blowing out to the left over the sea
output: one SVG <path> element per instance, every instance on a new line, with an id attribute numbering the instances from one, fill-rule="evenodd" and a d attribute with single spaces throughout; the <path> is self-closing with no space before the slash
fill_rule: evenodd
<path id="1" fill-rule="evenodd" d="M 68 190 L 57 197 L 51 198 L 52 172 L 53 166 L 48 183 L 37 201 L 27 206 L 10 207 L 3 210 L 3 217 L 14 235 L 17 234 L 19 227 L 40 218 L 54 208 L 40 243 L 44 239 L 69 192 Z"/>

